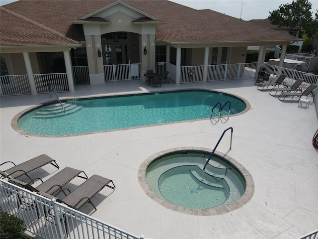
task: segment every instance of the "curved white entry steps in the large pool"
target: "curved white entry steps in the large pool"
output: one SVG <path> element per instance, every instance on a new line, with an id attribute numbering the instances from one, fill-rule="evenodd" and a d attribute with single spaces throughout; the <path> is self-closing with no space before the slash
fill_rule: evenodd
<path id="1" fill-rule="evenodd" d="M 84 105 L 78 103 L 64 103 L 63 106 L 59 104 L 53 104 L 44 107 L 37 112 L 33 118 L 54 118 L 69 115 L 78 112 Z"/>

